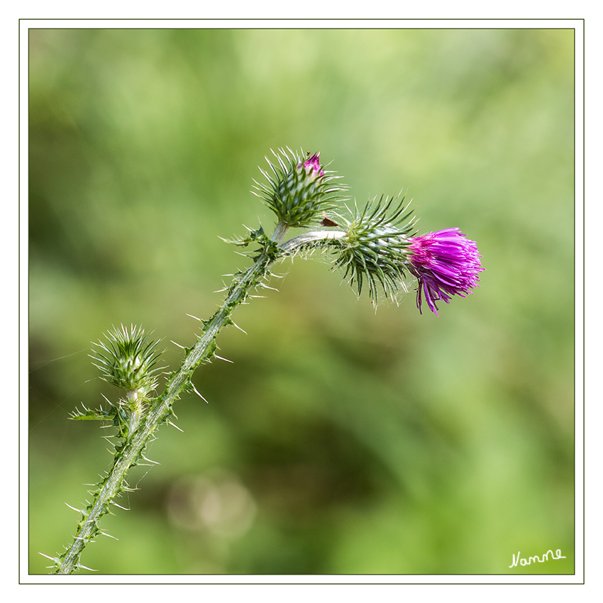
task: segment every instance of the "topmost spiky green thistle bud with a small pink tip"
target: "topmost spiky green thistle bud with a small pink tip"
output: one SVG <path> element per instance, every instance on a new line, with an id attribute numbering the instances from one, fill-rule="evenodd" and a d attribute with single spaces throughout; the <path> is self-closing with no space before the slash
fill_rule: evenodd
<path id="1" fill-rule="evenodd" d="M 269 184 L 255 182 L 259 194 L 254 194 L 265 201 L 284 226 L 309 226 L 319 222 L 322 211 L 331 208 L 334 201 L 341 200 L 338 193 L 346 187 L 333 182 L 338 179 L 333 172 L 323 170 L 319 153 L 304 160 L 289 148 L 287 151 L 280 149 L 280 155 L 272 152 L 277 166 L 266 157 L 274 177 L 260 168 Z"/>

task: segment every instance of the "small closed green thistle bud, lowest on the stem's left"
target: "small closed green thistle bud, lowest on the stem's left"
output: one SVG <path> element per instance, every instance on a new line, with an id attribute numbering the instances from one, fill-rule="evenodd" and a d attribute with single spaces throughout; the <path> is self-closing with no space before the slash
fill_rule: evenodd
<path id="1" fill-rule="evenodd" d="M 148 397 L 157 387 L 155 367 L 160 353 L 155 352 L 157 341 L 148 341 L 143 328 L 131 326 L 130 331 L 121 325 L 105 335 L 106 341 L 94 343 L 94 365 L 101 371 L 101 378 L 126 392 L 136 392 L 141 399 Z"/>

